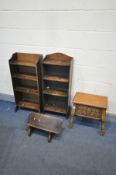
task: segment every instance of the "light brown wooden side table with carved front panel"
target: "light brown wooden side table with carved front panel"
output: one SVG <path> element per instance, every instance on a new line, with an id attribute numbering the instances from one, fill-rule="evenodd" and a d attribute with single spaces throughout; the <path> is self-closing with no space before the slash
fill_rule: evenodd
<path id="1" fill-rule="evenodd" d="M 107 97 L 77 92 L 73 98 L 73 108 L 69 128 L 73 127 L 75 115 L 101 121 L 100 135 L 105 134 Z"/>

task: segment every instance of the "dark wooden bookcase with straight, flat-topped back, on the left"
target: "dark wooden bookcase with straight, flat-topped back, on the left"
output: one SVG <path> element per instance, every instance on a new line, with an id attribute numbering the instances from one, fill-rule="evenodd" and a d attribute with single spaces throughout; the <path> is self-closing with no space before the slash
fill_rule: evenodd
<path id="1" fill-rule="evenodd" d="M 42 55 L 14 53 L 9 60 L 15 111 L 19 107 L 41 111 L 41 60 Z"/>

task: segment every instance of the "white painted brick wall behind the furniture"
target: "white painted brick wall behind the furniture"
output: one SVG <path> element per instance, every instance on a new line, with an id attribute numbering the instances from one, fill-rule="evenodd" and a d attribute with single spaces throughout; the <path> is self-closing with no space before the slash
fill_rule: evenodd
<path id="1" fill-rule="evenodd" d="M 116 114 L 116 0 L 0 0 L 0 93 L 14 52 L 74 57 L 72 96 L 106 95 Z"/>

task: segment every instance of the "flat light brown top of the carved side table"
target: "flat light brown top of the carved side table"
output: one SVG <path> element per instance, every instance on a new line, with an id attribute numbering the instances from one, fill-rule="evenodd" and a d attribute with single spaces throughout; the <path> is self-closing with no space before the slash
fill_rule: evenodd
<path id="1" fill-rule="evenodd" d="M 92 95 L 77 92 L 73 98 L 74 104 L 93 106 L 97 108 L 107 108 L 108 99 L 106 96 Z"/>

